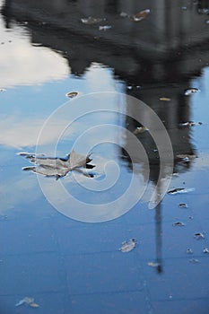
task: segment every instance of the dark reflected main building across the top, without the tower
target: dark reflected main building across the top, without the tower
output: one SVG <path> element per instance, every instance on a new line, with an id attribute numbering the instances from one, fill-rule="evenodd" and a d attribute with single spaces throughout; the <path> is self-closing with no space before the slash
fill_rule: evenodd
<path id="1" fill-rule="evenodd" d="M 173 82 L 198 74 L 208 61 L 207 19 L 199 11 L 204 3 L 182 7 L 176 1 L 149 0 L 144 7 L 143 1 L 135 0 L 5 0 L 3 13 L 7 25 L 13 18 L 28 22 L 33 42 L 65 52 L 75 74 L 98 61 L 112 66 L 120 76 L 137 75 L 138 83 Z M 144 8 L 151 13 L 142 22 L 120 16 Z M 107 18 L 101 23 L 112 29 L 99 31 L 100 24 L 83 24 L 81 18 L 87 16 Z M 73 35 L 79 35 L 79 40 Z"/>

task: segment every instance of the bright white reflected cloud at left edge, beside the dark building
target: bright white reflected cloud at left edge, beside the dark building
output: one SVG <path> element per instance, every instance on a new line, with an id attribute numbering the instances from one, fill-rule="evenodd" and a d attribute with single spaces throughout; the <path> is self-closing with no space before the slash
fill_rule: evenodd
<path id="1" fill-rule="evenodd" d="M 1 88 L 60 80 L 69 74 L 63 57 L 48 48 L 32 47 L 28 34 L 19 28 L 5 32 L 2 27 L 0 37 Z"/>

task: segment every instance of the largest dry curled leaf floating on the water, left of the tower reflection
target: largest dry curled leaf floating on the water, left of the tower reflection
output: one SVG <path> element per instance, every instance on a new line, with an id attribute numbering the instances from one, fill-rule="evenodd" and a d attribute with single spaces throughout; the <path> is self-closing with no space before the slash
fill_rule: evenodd
<path id="1" fill-rule="evenodd" d="M 33 167 L 24 167 L 22 170 L 30 170 L 32 172 L 36 172 L 42 174 L 46 177 L 55 176 L 56 179 L 61 177 L 65 177 L 65 175 L 72 170 L 76 170 L 78 172 L 83 173 L 84 176 L 88 178 L 92 178 L 93 175 L 91 173 L 87 173 L 84 170 L 80 169 L 81 167 L 85 169 L 92 169 L 95 166 L 91 165 L 90 154 L 87 156 L 82 155 L 80 153 L 75 153 L 72 151 L 69 153 L 66 158 L 57 158 L 57 157 L 39 157 L 36 154 L 28 154 L 21 153 L 21 155 L 25 156 L 31 162 L 35 163 Z"/>

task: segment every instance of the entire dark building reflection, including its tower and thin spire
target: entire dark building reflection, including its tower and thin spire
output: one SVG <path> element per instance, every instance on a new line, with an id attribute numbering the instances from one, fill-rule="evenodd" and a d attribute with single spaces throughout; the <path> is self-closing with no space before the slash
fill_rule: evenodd
<path id="1" fill-rule="evenodd" d="M 120 13 L 135 14 L 145 8 L 151 13 L 142 22 L 132 22 Z M 150 106 L 166 127 L 174 152 L 174 171 L 188 170 L 192 161 L 182 161 L 179 155 L 195 155 L 190 127 L 180 123 L 189 121 L 190 98 L 184 91 L 191 79 L 201 74 L 209 64 L 209 28 L 205 22 L 208 1 L 190 2 L 182 8 L 180 2 L 122 0 L 66 1 L 66 0 L 5 0 L 2 14 L 6 27 L 11 21 L 27 21 L 31 42 L 58 51 L 68 60 L 71 73 L 83 75 L 92 62 L 108 65 L 117 78 L 131 90 L 127 93 Z M 99 31 L 99 25 L 84 25 L 81 18 L 106 18 L 102 25 L 110 31 Z M 136 86 L 142 85 L 141 88 Z M 163 101 L 161 98 L 169 98 Z M 140 125 L 128 116 L 135 116 L 132 104 L 127 104 L 126 128 L 134 132 Z M 150 180 L 159 177 L 159 154 L 149 132 L 135 135 L 149 157 Z M 130 157 L 126 152 L 133 146 L 125 139 L 122 158 L 126 166 L 132 162 L 143 164 L 137 150 Z M 165 170 L 166 175 L 166 170 Z M 161 204 L 155 208 L 156 261 L 162 272 Z"/>

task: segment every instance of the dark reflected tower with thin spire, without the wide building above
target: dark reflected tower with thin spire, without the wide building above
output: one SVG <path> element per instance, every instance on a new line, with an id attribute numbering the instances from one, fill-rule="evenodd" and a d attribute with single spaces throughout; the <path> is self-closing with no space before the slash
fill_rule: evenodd
<path id="1" fill-rule="evenodd" d="M 182 165 L 180 170 L 187 170 L 190 162 L 182 162 L 179 160 L 179 155 L 191 155 L 194 154 L 194 148 L 191 143 L 190 138 L 190 129 L 189 127 L 180 127 L 179 124 L 190 120 L 190 109 L 189 109 L 189 98 L 184 95 L 184 90 L 186 84 L 182 84 L 179 87 L 172 86 L 168 84 L 167 86 L 144 86 L 143 89 L 138 92 L 129 91 L 135 98 L 143 100 L 145 104 L 149 105 L 158 117 L 163 122 L 164 126 L 167 129 L 168 134 L 170 135 L 170 140 L 173 147 L 174 153 L 174 171 L 179 167 L 179 164 Z M 164 100 L 165 99 L 165 100 Z M 141 111 L 140 117 L 141 121 L 149 121 L 149 124 L 152 125 L 152 118 L 144 117 L 147 115 L 147 111 Z M 135 119 L 131 118 L 135 117 Z M 143 144 L 144 149 L 149 158 L 150 164 L 150 181 L 152 185 L 155 186 L 159 180 L 159 171 L 160 171 L 160 159 L 158 150 L 161 147 L 157 147 L 154 143 L 152 136 L 149 134 L 149 130 L 140 132 L 142 125 L 139 125 L 139 117 L 136 117 L 135 112 L 135 102 L 132 98 L 128 97 L 126 102 L 126 128 L 131 133 L 134 133 L 138 140 Z M 137 132 L 139 130 L 139 132 Z M 159 130 L 156 130 L 159 132 Z M 132 152 L 131 159 L 126 158 L 127 166 L 131 168 L 132 162 L 140 164 L 142 167 L 142 174 L 147 171 L 144 168 L 144 161 L 141 156 L 142 152 L 139 152 L 138 149 L 134 148 L 134 140 L 131 136 L 126 135 L 125 145 L 123 148 L 123 154 L 126 156 L 127 152 Z M 166 149 L 166 147 L 164 147 Z M 164 163 L 163 169 L 164 178 L 168 175 L 166 170 L 166 162 Z M 162 179 L 163 181 L 163 179 Z M 163 189 L 163 182 L 161 181 L 158 190 L 155 191 L 156 196 L 161 195 L 161 189 Z M 161 257 L 161 244 L 162 244 L 162 229 L 161 229 L 161 211 L 162 205 L 159 203 L 155 208 L 155 245 L 156 245 L 156 263 L 158 273 L 162 272 L 162 257 Z"/>

